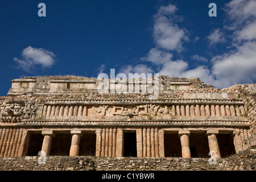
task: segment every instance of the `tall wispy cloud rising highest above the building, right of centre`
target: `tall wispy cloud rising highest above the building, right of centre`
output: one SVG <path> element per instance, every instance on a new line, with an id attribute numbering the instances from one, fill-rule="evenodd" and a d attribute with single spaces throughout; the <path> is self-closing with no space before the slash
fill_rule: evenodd
<path id="1" fill-rule="evenodd" d="M 154 16 L 154 40 L 156 47 L 168 51 L 181 52 L 183 40 L 188 40 L 186 31 L 180 28 L 175 21 L 180 20 L 174 13 L 176 6 L 162 6 Z"/>

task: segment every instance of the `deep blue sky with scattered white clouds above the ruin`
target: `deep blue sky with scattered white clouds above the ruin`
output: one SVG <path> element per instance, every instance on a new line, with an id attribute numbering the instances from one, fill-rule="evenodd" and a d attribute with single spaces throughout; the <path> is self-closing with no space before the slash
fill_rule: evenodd
<path id="1" fill-rule="evenodd" d="M 199 77 L 217 88 L 255 82 L 255 10 L 255 0 L 1 0 L 0 96 L 14 78 L 97 77 L 111 68 Z"/>

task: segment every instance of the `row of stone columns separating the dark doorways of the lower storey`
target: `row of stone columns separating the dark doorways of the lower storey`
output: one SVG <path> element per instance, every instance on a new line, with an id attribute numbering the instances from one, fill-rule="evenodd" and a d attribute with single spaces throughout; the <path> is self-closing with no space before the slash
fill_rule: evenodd
<path id="1" fill-rule="evenodd" d="M 137 157 L 164 157 L 164 132 L 158 127 L 143 127 L 136 129 L 137 135 Z M 55 136 L 51 130 L 43 131 L 44 140 L 42 144 L 42 151 L 45 155 L 49 155 L 51 149 L 52 137 Z M 80 137 L 82 137 L 81 130 L 71 130 L 72 141 L 69 155 L 79 155 Z M 189 148 L 189 135 L 191 131 L 180 130 L 178 135 L 180 137 L 181 153 L 183 158 L 191 158 L 191 151 Z M 209 151 L 214 151 L 216 158 L 221 158 L 220 148 L 218 146 L 218 130 L 210 129 L 206 131 L 208 137 Z M 236 153 L 242 150 L 240 131 L 233 131 L 233 142 Z M 104 157 L 121 157 L 123 155 L 123 130 L 117 127 L 104 127 L 96 130 L 96 156 Z"/>

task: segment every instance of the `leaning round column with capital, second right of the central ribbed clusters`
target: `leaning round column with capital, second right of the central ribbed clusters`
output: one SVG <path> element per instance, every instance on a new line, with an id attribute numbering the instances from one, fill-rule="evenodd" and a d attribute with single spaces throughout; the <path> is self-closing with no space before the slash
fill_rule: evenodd
<path id="1" fill-rule="evenodd" d="M 218 130 L 208 130 L 207 131 L 207 137 L 208 137 L 210 151 L 216 152 L 216 158 L 221 158 L 220 148 L 218 147 L 218 140 L 216 137 L 217 134 L 218 134 Z"/>

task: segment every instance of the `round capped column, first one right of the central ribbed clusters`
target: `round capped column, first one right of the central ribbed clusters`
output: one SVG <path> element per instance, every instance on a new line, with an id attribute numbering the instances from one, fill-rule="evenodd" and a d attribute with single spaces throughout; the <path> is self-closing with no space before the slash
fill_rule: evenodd
<path id="1" fill-rule="evenodd" d="M 181 151 L 183 158 L 191 158 L 191 152 L 189 148 L 189 135 L 190 131 L 179 131 Z"/>

